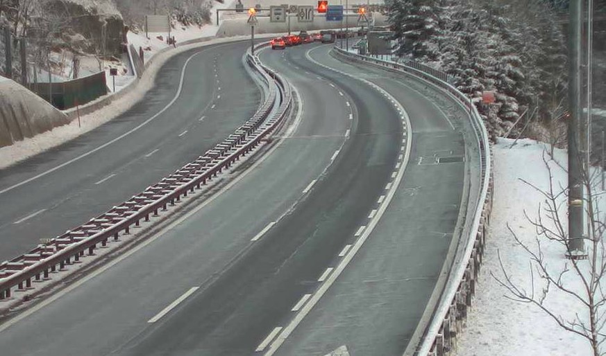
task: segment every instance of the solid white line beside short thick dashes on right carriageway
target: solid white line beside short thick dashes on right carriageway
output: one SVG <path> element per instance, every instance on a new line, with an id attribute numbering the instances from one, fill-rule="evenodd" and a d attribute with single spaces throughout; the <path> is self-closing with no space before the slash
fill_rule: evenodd
<path id="1" fill-rule="evenodd" d="M 308 59 L 311 62 L 314 62 L 316 64 L 323 66 L 323 64 L 314 60 L 309 54 L 312 50 L 317 49 L 317 48 L 322 48 L 322 46 L 312 48 L 309 51 L 305 52 L 305 57 L 308 57 Z M 326 66 L 326 68 L 330 69 L 330 67 L 328 67 L 328 66 Z M 369 83 L 367 80 L 363 80 L 360 78 L 358 78 L 358 79 L 361 80 L 362 82 Z M 384 92 L 387 93 L 387 91 L 384 91 Z M 402 109 L 404 109 L 399 103 L 398 103 L 398 106 L 401 107 Z M 410 118 L 406 112 L 405 112 L 405 114 L 406 114 L 406 119 L 407 119 L 406 125 L 410 127 Z M 410 138 L 410 132 L 407 135 Z M 405 152 L 405 154 L 406 154 L 405 161 L 404 161 L 403 167 L 400 169 L 400 171 L 398 173 L 398 177 L 396 178 L 396 187 L 400 184 L 400 181 L 402 180 L 402 177 L 404 176 L 405 167 L 407 166 L 408 161 L 410 159 L 410 150 L 412 148 L 411 141 L 412 140 L 407 140 L 407 150 Z M 328 277 L 328 280 L 326 280 L 325 283 L 322 283 L 322 285 L 320 285 L 317 292 L 312 296 L 312 298 L 310 298 L 310 301 L 307 304 L 305 304 L 305 306 L 301 309 L 300 312 L 296 313 L 296 315 L 294 316 L 292 321 L 290 321 L 289 324 L 284 328 L 284 330 L 282 332 L 280 332 L 280 335 L 278 335 L 278 337 L 276 337 L 276 340 L 274 340 L 271 343 L 269 350 L 267 350 L 267 353 L 265 353 L 264 356 L 271 356 L 274 353 L 276 353 L 278 348 L 280 348 L 280 346 L 289 337 L 289 335 L 292 334 L 294 329 L 301 323 L 301 321 L 303 321 L 303 319 L 307 316 L 307 314 L 309 314 L 311 312 L 312 308 L 314 308 L 314 306 L 319 302 L 319 300 L 322 298 L 322 296 L 324 294 L 326 294 L 326 292 L 328 291 L 328 288 L 330 288 L 330 286 L 333 285 L 333 283 L 335 283 L 337 278 L 339 278 L 339 275 L 341 275 L 341 273 L 344 271 L 345 267 L 347 267 L 349 262 L 351 262 L 351 260 L 353 260 L 357 251 L 359 251 L 362 248 L 362 244 L 364 244 L 364 242 L 367 240 L 369 235 L 372 233 L 375 226 L 378 224 L 380 217 L 387 210 L 387 206 L 389 206 L 389 202 L 392 201 L 392 198 L 394 197 L 395 194 L 396 194 L 396 189 L 389 190 L 389 192 L 387 193 L 386 204 L 382 204 L 379 207 L 378 216 L 375 219 L 371 220 L 371 222 L 369 224 L 369 228 L 366 231 L 364 231 L 364 234 L 360 238 L 357 239 L 357 241 L 355 242 L 355 244 L 353 245 L 353 247 L 351 249 L 351 252 L 348 253 L 347 256 L 345 256 L 341 260 L 339 265 L 337 265 L 337 268 L 335 268 L 335 272 Z"/>

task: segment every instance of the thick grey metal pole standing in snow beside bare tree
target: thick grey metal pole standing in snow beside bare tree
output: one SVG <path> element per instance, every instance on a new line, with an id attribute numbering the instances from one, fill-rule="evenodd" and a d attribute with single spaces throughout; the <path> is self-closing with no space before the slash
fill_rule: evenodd
<path id="1" fill-rule="evenodd" d="M 568 127 L 568 250 L 571 253 L 583 251 L 583 186 L 582 186 L 582 156 L 580 155 L 580 127 L 582 116 L 580 55 L 582 46 L 582 1 L 572 1 L 570 4 L 570 35 L 569 35 L 569 106 L 570 118 Z"/>

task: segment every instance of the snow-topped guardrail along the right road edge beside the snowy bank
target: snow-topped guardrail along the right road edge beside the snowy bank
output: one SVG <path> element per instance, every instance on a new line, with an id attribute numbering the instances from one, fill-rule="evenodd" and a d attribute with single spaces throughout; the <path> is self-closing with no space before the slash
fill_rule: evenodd
<path id="1" fill-rule="evenodd" d="M 465 227 L 455 258 L 453 259 L 450 273 L 448 274 L 448 280 L 435 304 L 427 327 L 420 330 L 420 342 L 416 340 L 411 341 L 415 344 L 410 345 L 405 353 L 405 355 L 420 356 L 445 355 L 452 349 L 453 338 L 461 330 L 462 321 L 466 319 L 467 308 L 471 306 L 471 301 L 475 294 L 475 281 L 480 270 L 482 253 L 487 238 L 487 226 L 492 208 L 493 181 L 491 151 L 486 127 L 471 100 L 448 83 L 448 75 L 446 73 L 422 65 L 414 65 L 413 67 L 407 64 L 357 55 L 336 47 L 335 51 L 338 55 L 351 60 L 412 74 L 426 82 L 435 84 L 435 86 L 446 91 L 448 95 L 454 98 L 469 113 L 473 134 L 478 140 L 480 156 L 478 158 L 480 160 L 481 175 L 479 184 L 475 187 L 478 191 L 474 195 L 470 195 L 470 199 L 477 197 L 475 202 L 470 202 L 474 207 L 473 214 L 467 215 L 468 220 L 469 215 L 473 215 L 471 216 L 473 219 L 471 223 L 464 224 Z"/>

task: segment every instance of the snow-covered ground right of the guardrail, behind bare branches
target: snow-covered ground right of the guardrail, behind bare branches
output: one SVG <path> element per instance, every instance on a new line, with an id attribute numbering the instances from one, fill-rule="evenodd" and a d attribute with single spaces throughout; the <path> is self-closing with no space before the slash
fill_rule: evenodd
<path id="1" fill-rule="evenodd" d="M 491 217 L 490 234 L 487 240 L 485 260 L 478 281 L 478 293 L 467 319 L 467 328 L 458 340 L 456 355 L 460 356 L 510 356 L 510 355 L 591 355 L 589 343 L 582 337 L 560 328 L 553 319 L 535 305 L 507 299 L 507 290 L 491 276 L 502 277 L 498 253 L 503 265 L 516 283 L 530 291 L 530 258 L 516 244 L 507 224 L 526 244 L 536 247 L 535 229 L 524 216 L 537 217 L 537 208 L 544 197 L 520 179 L 543 190 L 549 187 L 548 170 L 543 161 L 546 145 L 532 140 L 521 140 L 513 147 L 512 140 L 500 139 L 494 146 L 494 210 Z M 560 166 L 550 161 L 555 188 L 566 185 L 566 152 L 555 150 Z M 548 155 L 546 156 L 548 157 Z M 600 205 L 603 202 L 600 202 Z M 562 205 L 564 208 L 565 204 Z M 566 219 L 566 214 L 562 215 Z M 550 270 L 559 271 L 567 260 L 564 248 L 553 242 L 541 243 Z M 538 280 L 535 272 L 535 281 Z M 569 272 L 564 283 L 580 290 L 578 278 Z M 536 285 L 536 283 L 535 283 Z M 537 294 L 539 288 L 535 288 Z M 507 294 L 510 295 L 510 294 Z M 511 296 L 511 295 L 510 295 Z M 582 319 L 587 313 L 578 301 L 572 300 L 553 287 L 546 305 L 562 311 L 565 319 L 573 317 L 575 309 Z"/>

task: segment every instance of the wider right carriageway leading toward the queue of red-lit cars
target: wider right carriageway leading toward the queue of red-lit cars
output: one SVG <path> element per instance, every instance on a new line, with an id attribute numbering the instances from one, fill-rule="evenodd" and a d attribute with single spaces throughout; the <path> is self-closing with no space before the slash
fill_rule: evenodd
<path id="1" fill-rule="evenodd" d="M 420 94 L 423 84 L 329 50 L 262 52 L 302 108 L 270 154 L 124 259 L 0 326 L 0 349 L 401 355 L 457 224 L 465 163 L 456 109 Z"/>

